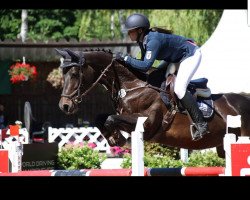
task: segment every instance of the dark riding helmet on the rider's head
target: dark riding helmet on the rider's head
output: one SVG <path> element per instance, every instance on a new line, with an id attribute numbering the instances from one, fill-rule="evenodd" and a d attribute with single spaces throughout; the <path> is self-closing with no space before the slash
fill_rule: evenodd
<path id="1" fill-rule="evenodd" d="M 148 18 L 142 14 L 132 14 L 130 15 L 125 22 L 125 29 L 127 31 L 136 29 L 136 28 L 146 28 L 149 29 L 150 23 Z"/>

